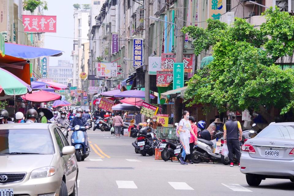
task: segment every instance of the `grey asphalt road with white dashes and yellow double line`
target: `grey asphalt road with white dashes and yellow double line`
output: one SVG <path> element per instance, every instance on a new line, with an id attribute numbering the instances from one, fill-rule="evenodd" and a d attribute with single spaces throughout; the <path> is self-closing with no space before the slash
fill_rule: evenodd
<path id="1" fill-rule="evenodd" d="M 266 179 L 250 187 L 237 166 L 154 160 L 136 154 L 134 138 L 88 130 L 91 152 L 79 162 L 78 194 L 96 195 L 294 195 L 287 179 Z"/>

